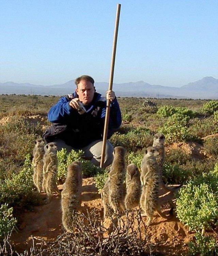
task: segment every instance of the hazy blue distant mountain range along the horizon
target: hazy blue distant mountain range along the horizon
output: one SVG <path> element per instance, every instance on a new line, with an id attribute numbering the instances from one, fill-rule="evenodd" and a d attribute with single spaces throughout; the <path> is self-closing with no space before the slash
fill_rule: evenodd
<path id="1" fill-rule="evenodd" d="M 0 83 L 0 94 L 26 95 L 67 95 L 75 91 L 74 80 L 61 85 L 16 84 L 14 82 Z M 95 82 L 96 91 L 103 96 L 108 90 L 107 82 Z M 144 81 L 113 84 L 113 91 L 120 97 L 156 97 L 156 98 L 188 98 L 188 99 L 218 99 L 218 79 L 207 76 L 201 80 L 190 82 L 182 87 L 150 85 Z"/>

